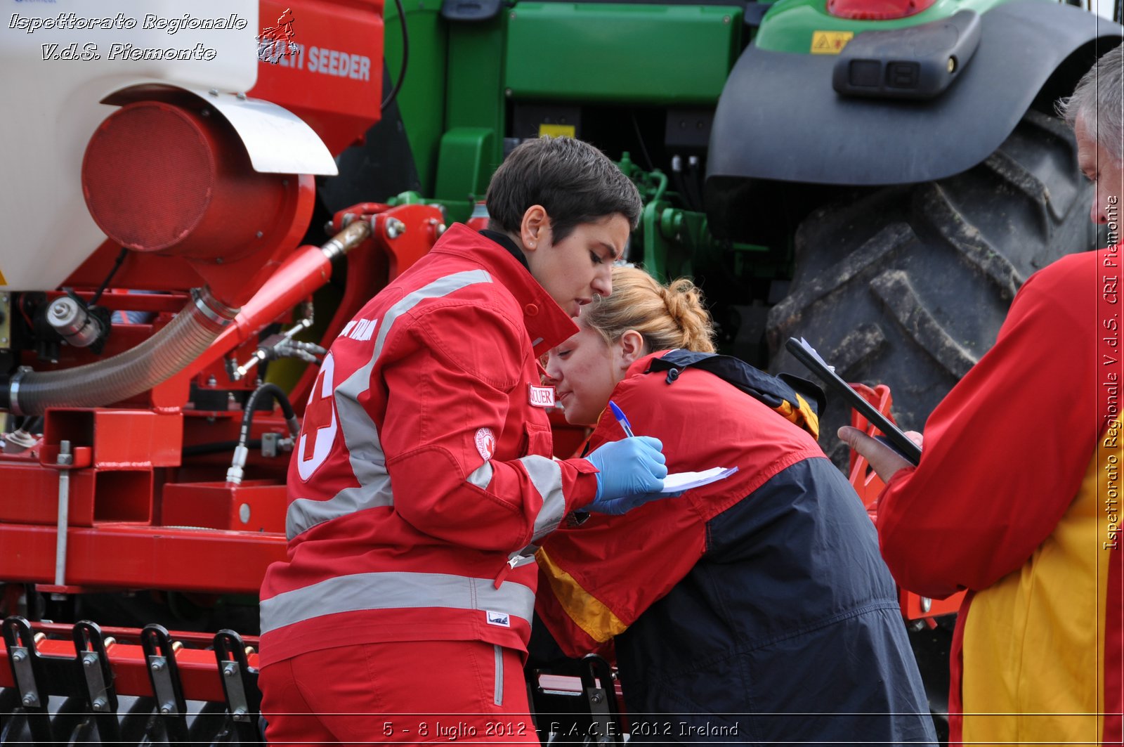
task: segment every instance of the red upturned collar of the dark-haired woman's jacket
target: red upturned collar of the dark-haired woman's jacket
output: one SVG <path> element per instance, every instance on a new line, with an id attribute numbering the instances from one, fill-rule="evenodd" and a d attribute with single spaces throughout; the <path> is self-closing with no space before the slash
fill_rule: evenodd
<path id="1" fill-rule="evenodd" d="M 495 232 L 488 233 L 496 235 Z M 510 246 L 501 245 L 462 223 L 454 223 L 442 235 L 432 253 L 454 254 L 472 260 L 507 288 L 520 306 L 523 323 L 527 327 L 535 356 L 543 356 L 554 345 L 577 334 L 578 325 L 551 298 L 546 289 L 538 285 L 526 264 L 520 263 L 516 256 L 518 248 L 515 243 L 510 240 L 508 243 Z"/>

